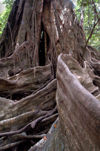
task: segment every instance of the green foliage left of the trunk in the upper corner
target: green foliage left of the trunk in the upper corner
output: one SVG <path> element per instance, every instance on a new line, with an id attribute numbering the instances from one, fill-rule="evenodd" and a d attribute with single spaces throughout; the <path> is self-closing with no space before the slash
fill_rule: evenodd
<path id="1" fill-rule="evenodd" d="M 0 35 L 7 23 L 9 13 L 11 11 L 14 0 L 4 0 L 3 4 L 5 4 L 5 10 L 0 14 Z"/>

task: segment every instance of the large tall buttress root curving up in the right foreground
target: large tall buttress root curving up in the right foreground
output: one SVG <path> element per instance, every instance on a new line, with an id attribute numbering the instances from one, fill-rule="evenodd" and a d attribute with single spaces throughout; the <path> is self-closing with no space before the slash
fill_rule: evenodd
<path id="1" fill-rule="evenodd" d="M 90 93 L 96 87 L 91 85 L 88 72 L 83 74 L 82 70 L 86 72 L 87 68 L 82 68 L 70 55 L 58 57 L 56 102 L 59 119 L 48 132 L 47 140 L 41 140 L 29 151 L 100 150 L 100 97 Z"/>

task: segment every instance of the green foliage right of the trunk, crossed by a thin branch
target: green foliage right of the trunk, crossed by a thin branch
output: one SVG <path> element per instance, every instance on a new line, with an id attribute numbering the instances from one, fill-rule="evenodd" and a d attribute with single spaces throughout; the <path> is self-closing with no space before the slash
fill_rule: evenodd
<path id="1" fill-rule="evenodd" d="M 86 39 L 88 39 L 94 24 L 96 24 L 98 18 L 100 18 L 100 0 L 78 0 L 75 10 L 79 21 L 81 21 L 81 13 L 83 10 L 83 28 Z M 93 34 L 88 44 L 100 50 L 100 21 L 93 30 Z"/>

